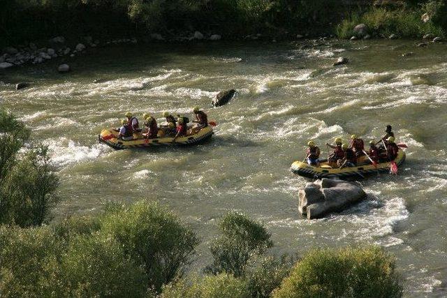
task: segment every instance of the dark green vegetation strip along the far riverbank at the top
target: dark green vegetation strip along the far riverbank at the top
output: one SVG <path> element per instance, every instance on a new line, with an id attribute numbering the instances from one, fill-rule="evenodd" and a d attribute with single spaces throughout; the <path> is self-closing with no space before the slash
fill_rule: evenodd
<path id="1" fill-rule="evenodd" d="M 72 38 L 167 37 L 191 31 L 241 38 L 263 33 L 291 38 L 297 33 L 335 33 L 350 37 L 365 22 L 376 36 L 396 33 L 442 35 L 447 28 L 446 0 L 394 1 L 374 8 L 372 0 L 2 0 L 0 46 L 57 35 Z M 383 1 L 388 2 L 388 1 Z M 420 16 L 430 15 L 423 23 Z M 338 26 L 337 26 L 338 24 Z"/>

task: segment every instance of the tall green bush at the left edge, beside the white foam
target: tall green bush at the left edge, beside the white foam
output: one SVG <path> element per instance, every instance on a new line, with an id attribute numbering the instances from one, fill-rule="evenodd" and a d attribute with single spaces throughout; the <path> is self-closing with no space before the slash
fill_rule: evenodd
<path id="1" fill-rule="evenodd" d="M 58 202 L 59 179 L 47 147 L 32 144 L 29 135 L 13 114 L 0 110 L 0 224 L 41 225 Z"/>

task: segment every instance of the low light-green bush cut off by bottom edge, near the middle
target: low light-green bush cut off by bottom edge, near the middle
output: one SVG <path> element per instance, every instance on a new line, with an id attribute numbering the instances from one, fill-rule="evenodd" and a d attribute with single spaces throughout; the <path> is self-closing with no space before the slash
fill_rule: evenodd
<path id="1" fill-rule="evenodd" d="M 184 280 L 172 283 L 163 289 L 163 298 L 249 298 L 247 283 L 230 274 L 196 278 L 192 284 Z"/>

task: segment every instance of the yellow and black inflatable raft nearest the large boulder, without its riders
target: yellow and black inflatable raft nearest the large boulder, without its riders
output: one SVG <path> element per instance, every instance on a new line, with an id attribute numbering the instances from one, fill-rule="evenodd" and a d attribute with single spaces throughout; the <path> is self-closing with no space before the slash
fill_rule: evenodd
<path id="1" fill-rule="evenodd" d="M 405 161 L 405 151 L 399 150 L 397 157 L 395 158 L 395 163 L 399 166 Z M 377 163 L 376 166 L 371 163 L 366 163 L 362 165 L 357 165 L 356 167 L 343 167 L 342 169 L 338 167 L 331 167 L 328 165 L 327 161 L 321 161 L 320 167 L 314 165 L 308 165 L 302 161 L 295 161 L 291 165 L 291 171 L 300 176 L 309 178 L 323 178 L 323 177 L 352 177 L 360 176 L 365 174 L 374 174 L 377 172 L 389 172 L 390 163 Z"/>

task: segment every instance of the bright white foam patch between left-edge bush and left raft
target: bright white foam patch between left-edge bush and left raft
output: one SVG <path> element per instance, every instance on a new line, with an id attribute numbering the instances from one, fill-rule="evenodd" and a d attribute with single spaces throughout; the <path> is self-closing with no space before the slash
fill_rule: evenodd
<path id="1" fill-rule="evenodd" d="M 45 140 L 44 144 L 47 144 L 50 149 L 52 162 L 61 167 L 72 163 L 94 160 L 105 147 L 103 144 L 95 144 L 92 147 L 82 146 L 66 137 Z"/>

